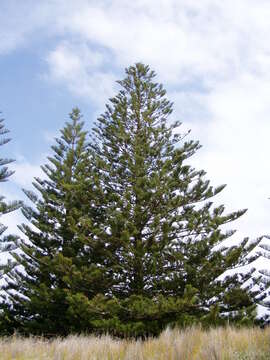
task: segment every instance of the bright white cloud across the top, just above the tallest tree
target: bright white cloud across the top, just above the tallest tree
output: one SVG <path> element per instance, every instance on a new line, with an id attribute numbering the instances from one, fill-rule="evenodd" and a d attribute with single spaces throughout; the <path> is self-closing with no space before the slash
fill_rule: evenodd
<path id="1" fill-rule="evenodd" d="M 253 1 L 81 1 L 58 19 L 58 30 L 110 50 L 121 67 L 142 60 L 178 84 L 263 61 L 254 50 L 269 49 L 263 35 L 270 26 L 262 21 L 269 11 Z"/>

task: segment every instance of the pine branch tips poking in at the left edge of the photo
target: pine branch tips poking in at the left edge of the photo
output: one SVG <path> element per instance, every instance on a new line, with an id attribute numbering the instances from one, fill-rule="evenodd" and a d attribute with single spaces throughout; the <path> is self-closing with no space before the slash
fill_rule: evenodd
<path id="1" fill-rule="evenodd" d="M 0 119 L 0 146 L 7 144 L 11 139 L 5 135 L 9 133 L 4 126 L 4 120 Z M 0 158 L 0 182 L 5 182 L 9 177 L 14 173 L 14 171 L 9 170 L 8 164 L 12 163 L 13 159 Z M 0 216 L 8 214 L 14 210 L 17 210 L 20 207 L 19 201 L 6 202 L 3 195 L 0 196 Z M 16 248 L 16 237 L 13 235 L 3 236 L 3 233 L 7 230 L 7 226 L 0 224 L 0 253 L 5 253 Z M 3 266 L 0 266 L 0 275 L 4 271 Z"/>

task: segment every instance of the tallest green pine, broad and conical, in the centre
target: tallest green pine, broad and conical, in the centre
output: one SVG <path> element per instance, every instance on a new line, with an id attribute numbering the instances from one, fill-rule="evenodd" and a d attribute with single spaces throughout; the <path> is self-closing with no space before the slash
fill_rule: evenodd
<path id="1" fill-rule="evenodd" d="M 94 128 L 95 171 L 102 189 L 105 243 L 111 272 L 106 296 L 84 298 L 89 326 L 118 336 L 158 334 L 167 325 L 252 323 L 248 274 L 220 276 L 252 262 L 258 241 L 227 247 L 234 232 L 221 226 L 245 213 L 224 213 L 211 201 L 205 171 L 187 160 L 200 148 L 169 125 L 172 103 L 148 66 L 136 64 L 119 81 Z M 74 310 L 75 311 L 75 310 Z"/>

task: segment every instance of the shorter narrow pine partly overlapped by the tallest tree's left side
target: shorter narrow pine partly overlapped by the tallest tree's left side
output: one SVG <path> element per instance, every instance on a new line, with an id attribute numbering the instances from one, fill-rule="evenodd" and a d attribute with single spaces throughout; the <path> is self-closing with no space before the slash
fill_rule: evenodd
<path id="1" fill-rule="evenodd" d="M 12 253 L 2 333 L 52 336 L 80 331 L 83 319 L 74 320 L 69 298 L 79 293 L 91 299 L 105 288 L 95 260 L 103 247 L 94 239 L 102 211 L 91 197 L 95 185 L 83 125 L 74 109 L 52 146 L 54 155 L 42 166 L 44 179 L 35 178 L 36 192 L 24 190 L 34 206 L 22 209 L 30 223 L 20 226 L 25 239 L 20 251 Z"/>

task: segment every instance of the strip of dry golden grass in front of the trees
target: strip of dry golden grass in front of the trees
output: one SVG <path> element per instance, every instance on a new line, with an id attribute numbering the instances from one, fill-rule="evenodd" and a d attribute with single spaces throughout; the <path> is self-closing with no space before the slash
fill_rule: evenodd
<path id="1" fill-rule="evenodd" d="M 1 360 L 266 360 L 270 328 L 166 330 L 158 339 L 116 340 L 70 336 L 47 341 L 19 337 L 0 340 Z"/>

